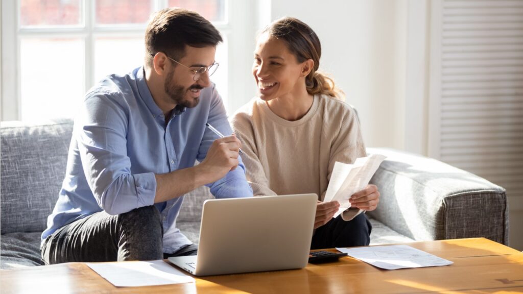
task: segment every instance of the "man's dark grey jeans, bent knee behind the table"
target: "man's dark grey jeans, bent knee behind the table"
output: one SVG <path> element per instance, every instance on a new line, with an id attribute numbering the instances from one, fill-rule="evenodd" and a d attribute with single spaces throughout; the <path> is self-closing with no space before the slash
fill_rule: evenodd
<path id="1" fill-rule="evenodd" d="M 105 211 L 55 231 L 41 253 L 46 264 L 65 262 L 150 261 L 164 258 L 163 226 L 154 206 L 111 216 Z M 192 244 L 169 256 L 196 254 Z"/>

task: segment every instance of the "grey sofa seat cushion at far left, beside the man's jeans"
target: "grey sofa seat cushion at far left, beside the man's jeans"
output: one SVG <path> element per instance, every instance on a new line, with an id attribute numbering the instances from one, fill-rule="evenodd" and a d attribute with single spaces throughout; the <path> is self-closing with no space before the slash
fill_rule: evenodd
<path id="1" fill-rule="evenodd" d="M 42 265 L 40 255 L 41 232 L 10 233 L 0 238 L 0 268 Z"/>

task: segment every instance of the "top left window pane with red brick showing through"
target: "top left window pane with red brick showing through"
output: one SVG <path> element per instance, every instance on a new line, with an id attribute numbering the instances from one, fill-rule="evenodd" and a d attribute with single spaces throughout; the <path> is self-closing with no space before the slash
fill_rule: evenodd
<path id="1" fill-rule="evenodd" d="M 81 0 L 21 0 L 20 26 L 81 25 L 81 7 Z"/>

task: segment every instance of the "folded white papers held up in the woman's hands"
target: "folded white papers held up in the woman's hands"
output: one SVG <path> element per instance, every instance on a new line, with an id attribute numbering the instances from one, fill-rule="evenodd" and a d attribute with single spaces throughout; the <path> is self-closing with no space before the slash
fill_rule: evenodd
<path id="1" fill-rule="evenodd" d="M 336 218 L 342 212 L 350 208 L 349 198 L 354 193 L 361 191 L 368 184 L 372 175 L 376 173 L 381 162 L 386 156 L 381 154 L 372 154 L 367 157 L 356 159 L 354 164 L 336 162 L 329 180 L 324 202 L 338 201 L 339 209 L 334 214 Z M 362 210 L 355 209 L 357 215 Z M 354 215 L 354 216 L 355 216 Z M 351 217 L 354 217 L 351 214 Z"/>

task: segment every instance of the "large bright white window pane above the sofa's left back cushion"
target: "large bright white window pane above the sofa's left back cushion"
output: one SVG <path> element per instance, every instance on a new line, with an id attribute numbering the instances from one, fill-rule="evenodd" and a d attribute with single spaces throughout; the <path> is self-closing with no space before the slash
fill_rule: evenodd
<path id="1" fill-rule="evenodd" d="M 84 97 L 84 41 L 21 39 L 21 119 L 74 117 Z"/>

